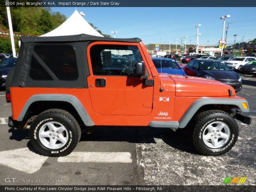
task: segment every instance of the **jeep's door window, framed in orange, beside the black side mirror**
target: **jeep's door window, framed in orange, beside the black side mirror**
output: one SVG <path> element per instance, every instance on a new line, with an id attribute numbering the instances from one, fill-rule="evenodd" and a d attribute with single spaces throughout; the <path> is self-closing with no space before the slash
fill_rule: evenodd
<path id="1" fill-rule="evenodd" d="M 94 45 L 90 57 L 93 75 L 104 76 L 134 76 L 142 61 L 138 47 L 130 45 Z"/>

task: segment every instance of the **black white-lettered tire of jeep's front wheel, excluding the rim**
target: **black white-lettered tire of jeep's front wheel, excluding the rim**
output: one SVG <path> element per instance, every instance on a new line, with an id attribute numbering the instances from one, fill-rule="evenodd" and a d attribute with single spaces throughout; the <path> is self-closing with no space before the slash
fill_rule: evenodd
<path id="1" fill-rule="evenodd" d="M 227 142 L 219 148 L 211 148 L 204 143 L 203 132 L 209 124 L 223 122 L 228 126 L 230 136 Z M 238 125 L 233 117 L 221 110 L 208 110 L 196 116 L 196 127 L 193 133 L 193 141 L 196 149 L 206 156 L 218 156 L 228 152 L 238 138 Z"/>

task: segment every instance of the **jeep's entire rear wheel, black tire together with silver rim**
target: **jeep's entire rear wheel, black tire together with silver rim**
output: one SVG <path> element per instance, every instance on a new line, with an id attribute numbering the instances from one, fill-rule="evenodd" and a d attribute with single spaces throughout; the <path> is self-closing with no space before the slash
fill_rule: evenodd
<path id="1" fill-rule="evenodd" d="M 76 119 L 61 109 L 46 110 L 30 126 L 30 140 L 38 153 L 66 156 L 76 147 L 81 129 Z"/>

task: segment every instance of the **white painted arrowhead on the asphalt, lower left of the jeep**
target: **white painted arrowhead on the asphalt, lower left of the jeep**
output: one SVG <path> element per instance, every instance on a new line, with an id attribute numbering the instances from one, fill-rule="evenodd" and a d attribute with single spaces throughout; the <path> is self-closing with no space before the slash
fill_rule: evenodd
<path id="1" fill-rule="evenodd" d="M 1 151 L 0 157 L 1 165 L 30 174 L 37 172 L 48 159 L 48 157 L 38 155 L 27 147 Z"/>

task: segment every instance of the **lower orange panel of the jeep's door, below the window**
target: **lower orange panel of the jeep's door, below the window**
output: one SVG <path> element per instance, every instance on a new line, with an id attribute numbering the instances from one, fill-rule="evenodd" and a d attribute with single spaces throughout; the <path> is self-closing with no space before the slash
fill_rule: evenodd
<path id="1" fill-rule="evenodd" d="M 106 85 L 97 87 L 96 79 L 104 79 Z M 98 114 L 148 115 L 152 111 L 153 86 L 145 86 L 140 77 L 89 76 L 87 80 L 92 107 Z"/>

